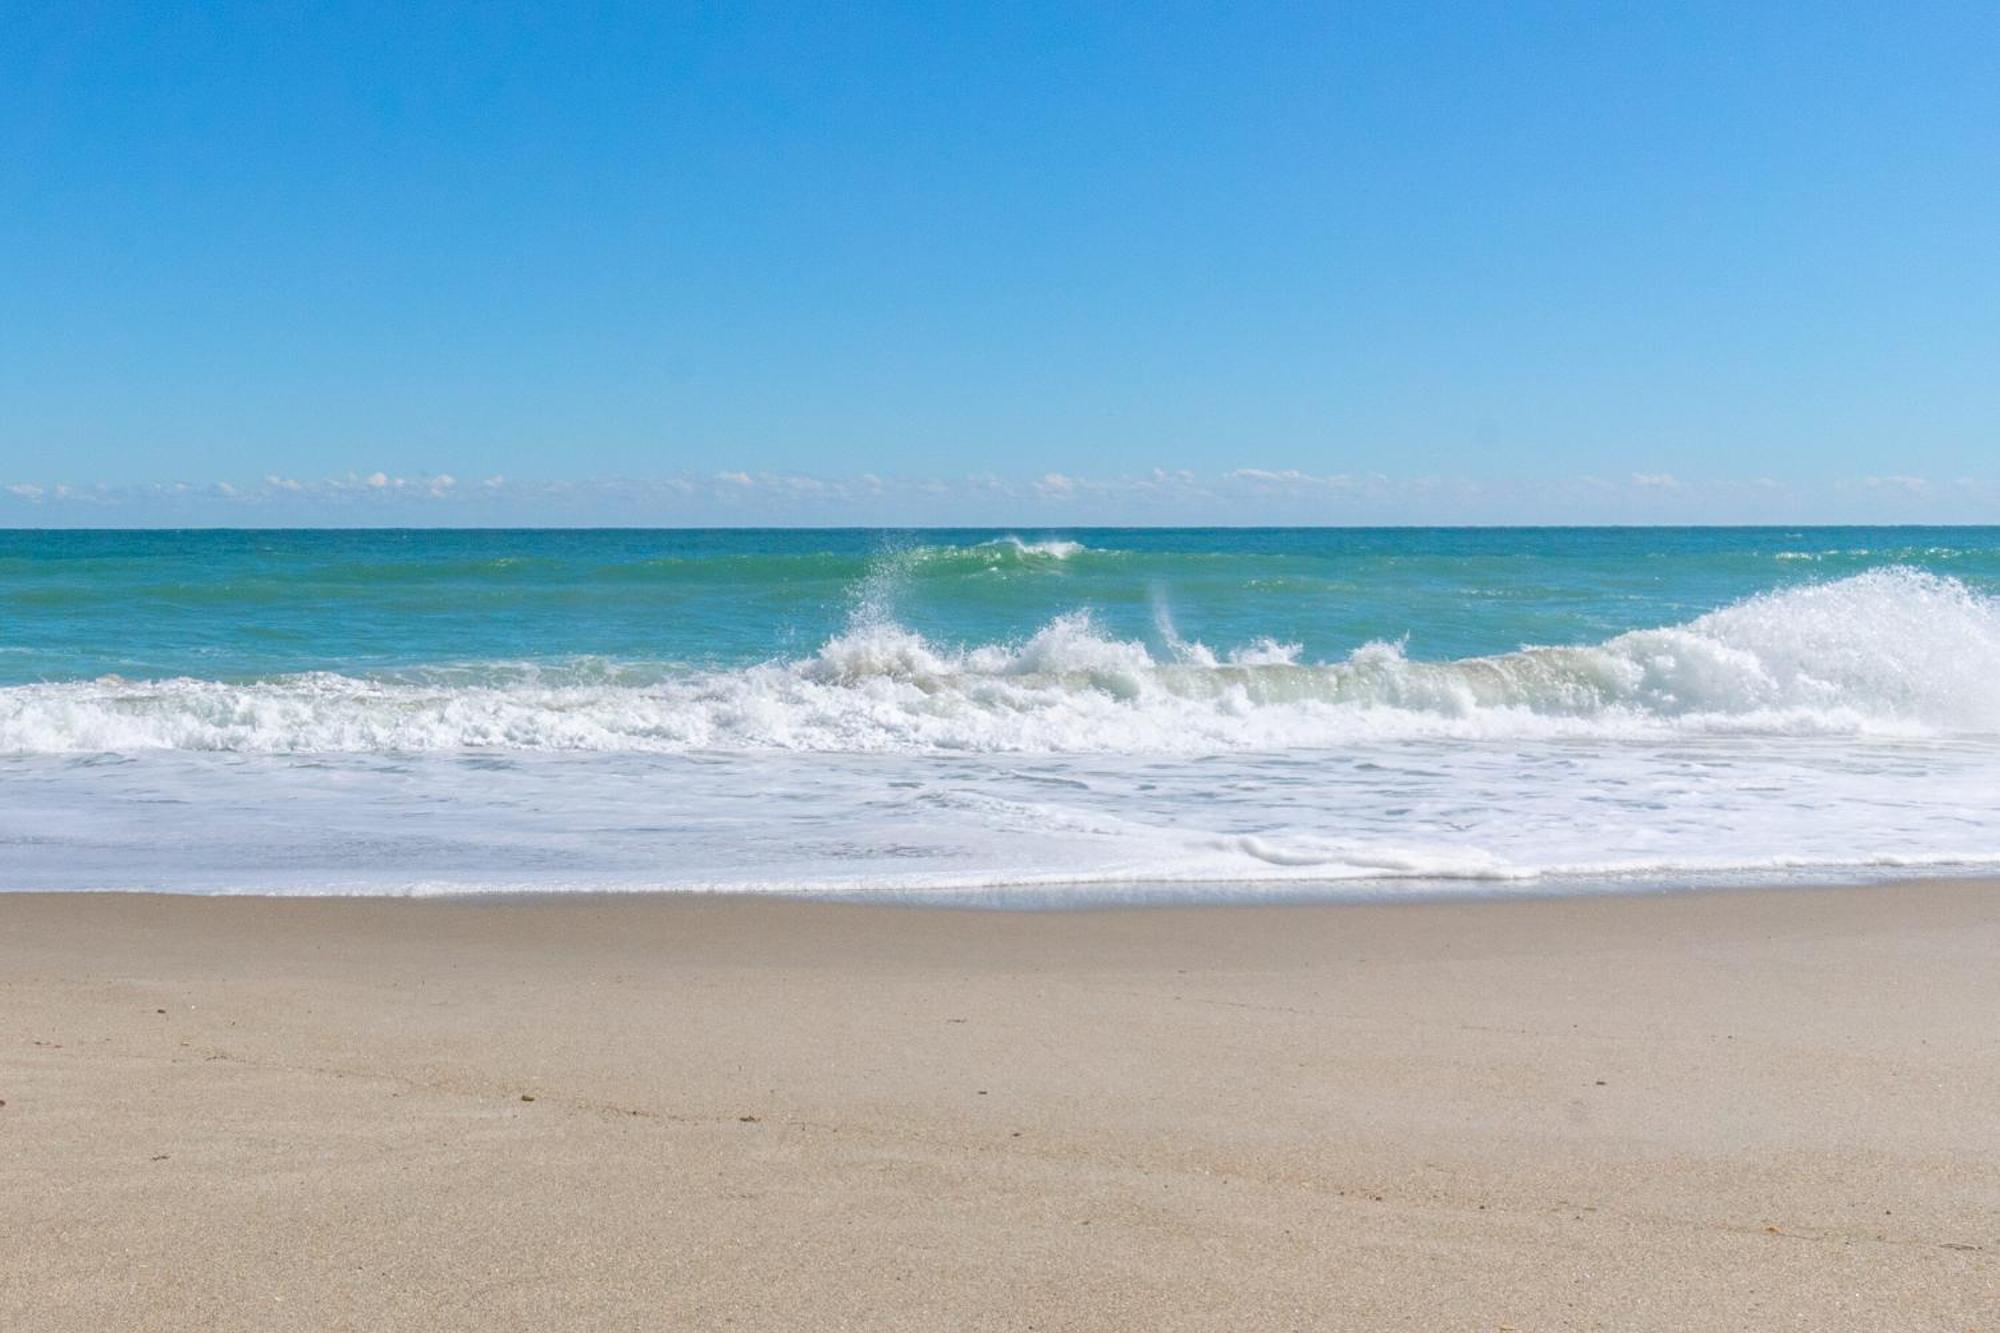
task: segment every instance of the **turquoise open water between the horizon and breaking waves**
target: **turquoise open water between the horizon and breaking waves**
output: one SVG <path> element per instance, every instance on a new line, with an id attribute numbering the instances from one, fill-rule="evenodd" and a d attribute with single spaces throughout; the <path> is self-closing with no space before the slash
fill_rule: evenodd
<path id="1" fill-rule="evenodd" d="M 1072 548 L 1074 546 L 1074 548 Z M 1004 642 L 1088 608 L 1164 646 L 1588 644 L 1902 564 L 2000 586 L 2000 528 L 0 532 L 0 683 L 598 658 L 742 666 L 872 608 Z"/>

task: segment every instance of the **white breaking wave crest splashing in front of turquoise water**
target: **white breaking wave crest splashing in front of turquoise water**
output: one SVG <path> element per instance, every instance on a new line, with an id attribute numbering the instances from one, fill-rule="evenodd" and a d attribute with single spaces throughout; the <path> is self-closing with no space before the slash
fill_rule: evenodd
<path id="1" fill-rule="evenodd" d="M 1168 654 L 1086 612 L 948 646 L 880 604 L 812 656 L 648 685 L 332 673 L 0 691 L 0 753 L 854 751 L 1240 753 L 1390 739 L 2000 733 L 2000 606 L 1884 568 L 1590 646 L 1426 662 L 1270 638 Z"/>

